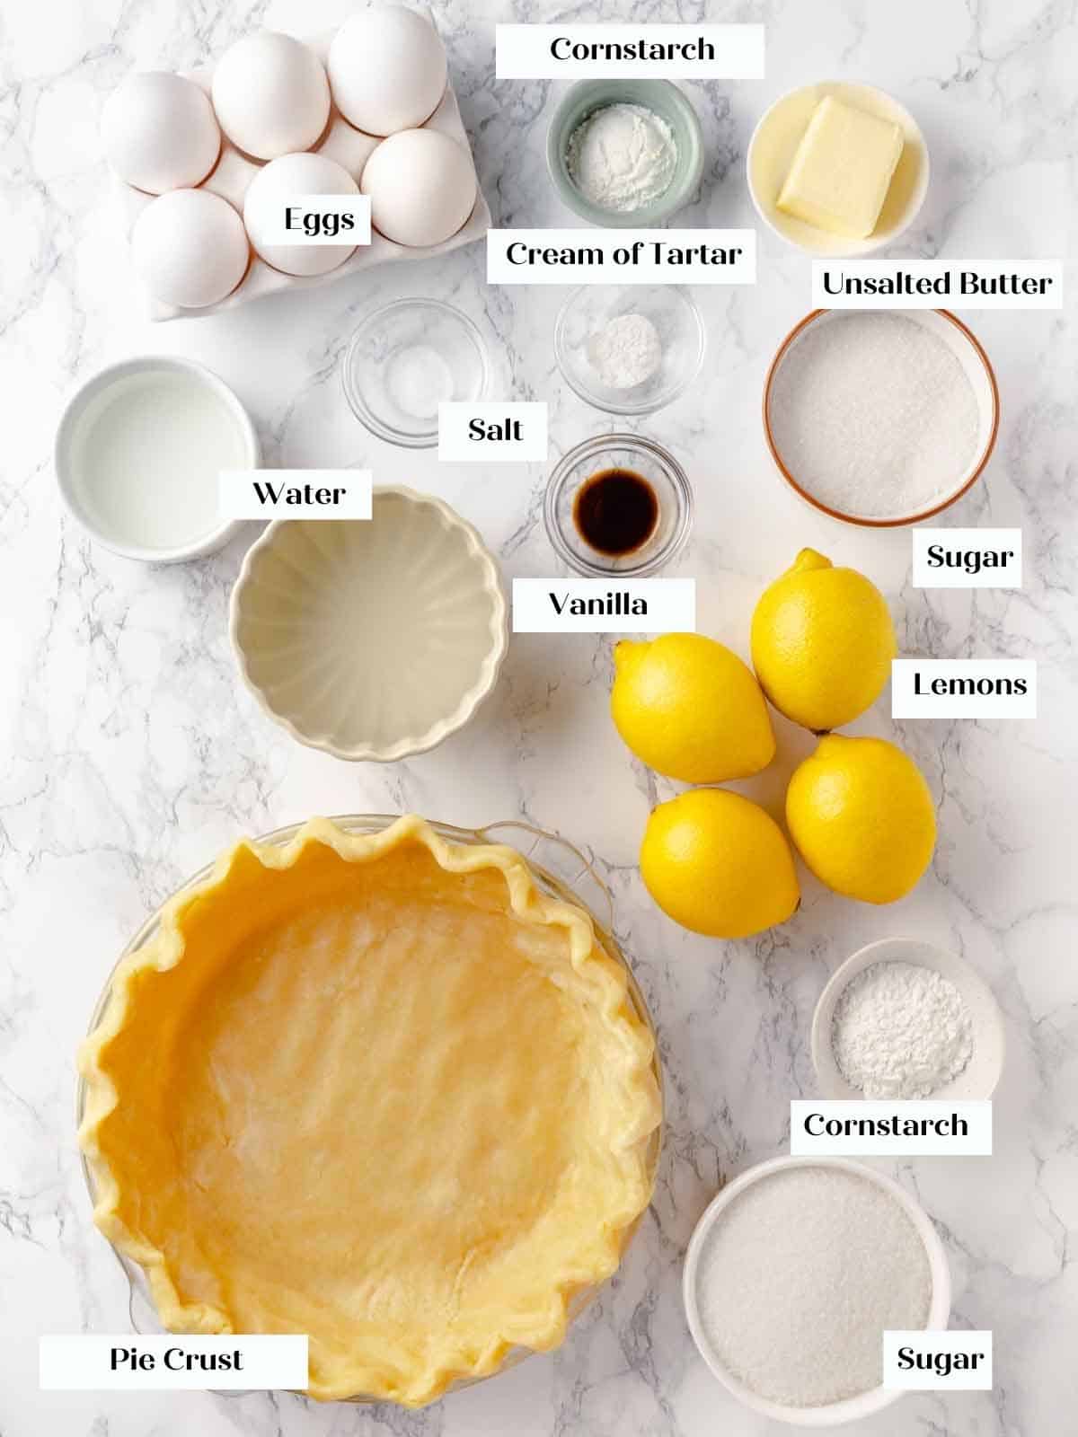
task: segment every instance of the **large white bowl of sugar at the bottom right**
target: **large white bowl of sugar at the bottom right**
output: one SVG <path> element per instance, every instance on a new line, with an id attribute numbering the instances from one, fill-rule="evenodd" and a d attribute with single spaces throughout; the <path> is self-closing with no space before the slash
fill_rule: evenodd
<path id="1" fill-rule="evenodd" d="M 793 1427 L 890 1407 L 883 1334 L 946 1329 L 950 1272 L 927 1213 L 847 1158 L 773 1158 L 729 1183 L 684 1267 L 688 1329 L 740 1403 Z"/>

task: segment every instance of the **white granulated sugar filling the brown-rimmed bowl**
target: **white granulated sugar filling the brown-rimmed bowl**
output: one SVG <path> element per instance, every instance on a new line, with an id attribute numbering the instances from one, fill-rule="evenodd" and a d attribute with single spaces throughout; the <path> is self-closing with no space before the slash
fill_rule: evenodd
<path id="1" fill-rule="evenodd" d="M 770 392 L 775 445 L 829 509 L 900 519 L 941 503 L 976 456 L 977 401 L 947 343 L 891 310 L 832 313 L 791 345 Z"/>

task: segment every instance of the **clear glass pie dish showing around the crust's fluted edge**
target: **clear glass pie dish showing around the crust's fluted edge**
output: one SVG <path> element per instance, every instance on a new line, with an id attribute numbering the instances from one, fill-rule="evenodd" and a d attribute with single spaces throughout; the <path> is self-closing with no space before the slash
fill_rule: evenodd
<path id="1" fill-rule="evenodd" d="M 420 821 L 411 821 L 411 822 L 418 823 Z M 388 829 L 391 825 L 395 823 L 395 816 L 349 815 L 333 819 L 333 823 L 336 825 L 338 829 L 344 831 L 344 833 L 348 835 L 362 835 L 362 836 L 379 835 L 382 833 L 382 831 Z M 290 844 L 292 839 L 296 838 L 296 835 L 300 832 L 302 828 L 303 825 L 290 825 L 287 828 L 282 828 L 272 833 L 263 835 L 256 842 L 259 845 L 264 845 L 275 849 L 283 848 L 285 845 Z M 611 960 L 611 963 L 614 963 L 625 974 L 627 987 L 624 992 L 624 1002 L 627 1002 L 628 1009 L 635 1016 L 640 1026 L 645 1029 L 647 1033 L 654 1039 L 654 1027 L 648 1017 L 642 994 L 635 980 L 632 979 L 631 970 L 628 967 L 624 954 L 621 953 L 617 941 L 614 940 L 609 931 L 612 923 L 612 905 L 609 900 L 609 892 L 605 888 L 602 879 L 595 874 L 591 864 L 584 858 L 584 855 L 579 854 L 578 849 L 575 849 L 572 845 L 566 844 L 563 839 L 552 833 L 546 833 L 542 829 L 536 829 L 532 828 L 530 825 L 513 821 L 493 823 L 482 829 L 461 829 L 453 825 L 431 822 L 430 829 L 433 829 L 440 839 L 444 839 L 446 842 L 454 845 L 470 846 L 470 845 L 496 844 L 513 849 L 515 854 L 517 854 L 520 858 L 526 861 L 532 879 L 542 895 L 549 897 L 552 900 L 558 900 L 561 902 L 573 904 L 576 908 L 586 912 L 594 925 L 595 941 L 598 948 L 601 948 Z M 513 862 L 517 862 L 517 859 L 513 859 Z M 214 865 L 210 865 L 201 869 L 198 874 L 195 874 L 191 879 L 188 879 L 187 884 L 184 884 L 177 891 L 177 894 L 178 895 L 187 894 L 197 885 L 206 884 L 206 879 L 211 874 L 213 867 Z M 170 904 L 175 900 L 177 894 L 174 894 L 172 898 L 170 898 L 168 901 Z M 119 960 L 121 963 L 131 958 L 132 956 L 139 954 L 142 948 L 145 948 L 155 940 L 158 928 L 162 923 L 162 912 L 165 911 L 165 908 L 168 908 L 168 904 L 164 904 L 161 908 L 158 908 L 157 912 L 142 925 L 142 928 L 139 928 L 139 931 L 134 935 L 131 943 L 126 946 L 124 954 L 121 956 Z M 165 918 L 165 928 L 162 930 L 164 933 L 168 933 L 167 924 L 168 920 Z M 111 1010 L 112 993 L 115 987 L 115 971 L 116 970 L 114 970 L 114 973 L 111 974 L 109 981 L 105 986 L 105 992 L 102 993 L 101 999 L 98 1000 L 98 1004 L 95 1006 L 95 1012 L 91 1020 L 91 1033 L 95 1033 L 101 1025 L 108 1023 L 109 1017 L 115 1017 L 116 1010 Z M 121 997 L 119 1002 L 122 1003 L 124 999 Z M 647 1069 L 648 1063 L 647 1058 L 644 1058 L 642 1071 Z M 640 1171 L 647 1174 L 647 1191 L 650 1191 L 651 1187 L 654 1186 L 654 1175 L 658 1164 L 660 1144 L 661 1144 L 661 1072 L 658 1068 L 658 1062 L 654 1056 L 654 1052 L 650 1062 L 650 1081 L 651 1079 L 654 1079 L 654 1089 L 660 1104 L 660 1108 L 655 1109 L 655 1117 L 658 1121 L 657 1125 L 654 1127 L 654 1131 L 650 1132 L 647 1138 L 647 1147 L 641 1150 L 641 1157 L 638 1158 L 638 1163 L 641 1164 Z M 79 1082 L 79 1091 L 78 1091 L 78 1119 L 80 1125 L 88 1108 L 89 1096 L 91 1096 L 89 1085 L 86 1083 L 85 1079 L 82 1079 Z M 653 1118 L 653 1122 L 654 1121 L 655 1118 Z M 99 1197 L 98 1180 L 95 1177 L 92 1165 L 88 1164 L 85 1160 L 83 1160 L 83 1174 L 86 1178 L 86 1186 L 91 1198 L 95 1201 L 96 1206 Z M 631 1237 L 637 1226 L 638 1226 L 638 1219 L 637 1221 L 631 1223 L 624 1229 L 619 1247 L 621 1260 L 624 1260 L 624 1255 L 628 1249 L 628 1244 L 631 1242 Z M 109 1239 L 114 1234 L 109 1233 Z M 162 1328 L 158 1321 L 157 1306 L 151 1298 L 149 1286 L 144 1276 L 142 1267 L 131 1262 L 126 1256 L 124 1256 L 115 1244 L 114 1244 L 114 1252 L 116 1253 L 116 1257 L 128 1277 L 128 1283 L 131 1288 L 129 1313 L 131 1313 L 132 1328 L 137 1332 L 160 1332 Z M 605 1270 L 608 1269 L 604 1269 L 604 1272 Z M 596 1292 L 601 1290 L 601 1288 L 602 1283 L 595 1283 L 594 1286 L 579 1288 L 578 1290 L 572 1292 L 572 1295 L 566 1292 L 566 1300 L 571 1296 L 571 1302 L 568 1302 L 569 1321 L 572 1321 L 581 1311 L 584 1311 L 585 1306 L 588 1306 L 594 1300 Z M 273 1329 L 253 1328 L 252 1331 L 273 1331 Z M 448 1390 L 451 1391 L 456 1390 L 457 1387 L 473 1385 L 476 1381 L 486 1381 L 489 1380 L 489 1377 L 497 1375 L 497 1371 L 502 1371 L 506 1367 L 512 1367 L 520 1362 L 525 1357 L 530 1355 L 530 1351 L 532 1348 L 509 1348 L 509 1351 L 502 1358 L 500 1365 L 497 1367 L 496 1371 L 483 1372 L 482 1375 L 470 1374 L 467 1377 L 460 1377 L 451 1382 Z M 364 1394 L 339 1397 L 336 1400 L 345 1400 L 352 1403 L 372 1401 L 371 1397 Z"/>

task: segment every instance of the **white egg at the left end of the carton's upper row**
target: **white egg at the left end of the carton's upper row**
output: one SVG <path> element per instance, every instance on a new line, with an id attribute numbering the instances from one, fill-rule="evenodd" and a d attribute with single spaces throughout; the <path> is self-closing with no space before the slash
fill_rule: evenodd
<path id="1" fill-rule="evenodd" d="M 165 70 L 128 75 L 105 101 L 101 139 L 119 178 L 149 194 L 201 184 L 221 152 L 206 92 Z"/>

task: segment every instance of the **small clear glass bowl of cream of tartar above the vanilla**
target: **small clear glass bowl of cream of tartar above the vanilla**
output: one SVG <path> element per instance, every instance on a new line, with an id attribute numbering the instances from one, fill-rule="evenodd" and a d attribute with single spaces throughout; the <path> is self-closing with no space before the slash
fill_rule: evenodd
<path id="1" fill-rule="evenodd" d="M 607 414 L 654 414 L 700 374 L 704 322 L 688 292 L 671 285 L 584 285 L 553 326 L 562 378 Z"/>

